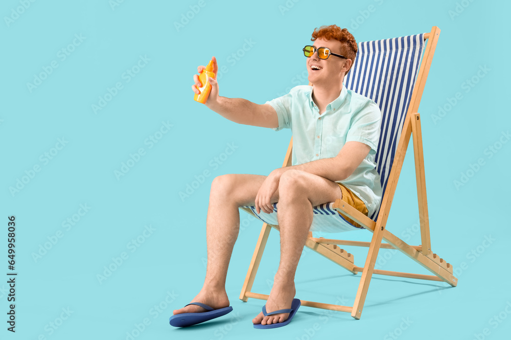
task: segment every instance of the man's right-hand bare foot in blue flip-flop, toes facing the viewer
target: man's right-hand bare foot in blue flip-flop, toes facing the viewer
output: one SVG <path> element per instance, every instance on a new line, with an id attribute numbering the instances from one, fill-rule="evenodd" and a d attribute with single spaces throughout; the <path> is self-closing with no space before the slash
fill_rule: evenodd
<path id="1" fill-rule="evenodd" d="M 287 284 L 279 284 L 276 281 L 271 288 L 270 296 L 266 301 L 266 312 L 270 313 L 275 310 L 291 308 L 291 303 L 296 294 L 294 282 Z M 253 324 L 269 325 L 284 322 L 289 318 L 289 313 L 278 313 L 264 316 L 263 312 L 259 313 L 254 319 Z"/>

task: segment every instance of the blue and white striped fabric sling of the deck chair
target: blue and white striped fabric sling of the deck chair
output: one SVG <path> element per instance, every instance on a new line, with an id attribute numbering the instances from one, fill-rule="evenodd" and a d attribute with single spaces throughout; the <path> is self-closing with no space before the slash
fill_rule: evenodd
<path id="1" fill-rule="evenodd" d="M 423 48 L 424 34 L 359 42 L 353 67 L 344 78 L 346 88 L 374 100 L 382 111 L 376 169 L 380 174 L 383 195 L 419 71 Z M 278 203 L 273 204 L 274 213 L 271 214 L 258 214 L 253 206 L 243 208 L 250 209 L 263 222 L 278 224 L 277 205 Z M 332 205 L 333 202 L 314 207 L 311 231 L 338 233 L 363 229 L 347 222 L 332 209 Z M 373 216 L 369 217 L 376 221 L 379 211 L 378 208 Z"/>

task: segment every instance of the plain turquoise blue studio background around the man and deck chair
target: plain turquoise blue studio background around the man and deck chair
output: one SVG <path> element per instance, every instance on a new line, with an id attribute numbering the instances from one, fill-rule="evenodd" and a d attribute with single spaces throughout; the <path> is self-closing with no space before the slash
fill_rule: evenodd
<path id="1" fill-rule="evenodd" d="M 128 333 L 137 339 L 472 339 L 475 334 L 497 339 L 509 334 L 508 2 L 111 3 L 8 0 L 0 6 L 2 338 L 125 339 Z M 183 19 L 187 15 L 191 18 Z M 189 303 L 204 280 L 213 178 L 267 175 L 282 166 L 291 137 L 290 130 L 235 124 L 194 102 L 197 66 L 216 56 L 228 71 L 219 76 L 220 95 L 262 104 L 308 84 L 301 49 L 314 28 L 331 24 L 348 28 L 357 41 L 425 33 L 432 26 L 442 30 L 419 112 L 432 248 L 454 265 L 458 286 L 375 276 L 359 321 L 349 313 L 301 307 L 284 328 L 253 329 L 251 319 L 264 301 L 243 303 L 238 297 L 262 223 L 241 212 L 226 286 L 234 311 L 190 329 L 169 326 L 172 310 Z M 252 46 L 234 59 L 246 41 Z M 144 67 L 137 69 L 141 57 Z M 49 69 L 52 62 L 58 67 Z M 486 71 L 478 75 L 480 67 Z M 131 69 L 140 72 L 128 82 Z M 47 77 L 30 89 L 27 83 L 40 73 Z M 473 77 L 477 83 L 467 87 Z M 118 82 L 122 89 L 105 98 Z M 461 99 L 458 95 L 453 104 L 458 92 Z M 109 101 L 95 112 L 92 105 L 99 105 L 100 97 Z M 443 117 L 439 107 L 449 109 Z M 164 123 L 172 127 L 162 128 Z M 151 137 L 160 139 L 151 144 Z M 237 147 L 233 154 L 215 161 L 229 143 Z M 60 150 L 52 149 L 56 146 Z M 116 176 L 140 148 L 138 161 Z M 404 238 L 413 235 L 410 242 L 419 244 L 412 150 L 410 144 L 387 228 Z M 53 152 L 52 159 L 45 152 Z M 31 172 L 34 167 L 39 171 Z M 181 198 L 179 192 L 205 170 L 209 176 Z M 26 183 L 15 191 L 18 179 Z M 80 205 L 89 207 L 85 214 Z M 14 334 L 4 321 L 11 215 L 17 223 Z M 65 222 L 73 218 L 74 225 Z M 146 226 L 152 232 L 143 236 Z M 369 240 L 371 234 L 334 236 Z M 137 237 L 138 246 L 132 242 Z M 367 250 L 347 249 L 362 266 Z M 122 264 L 113 265 L 112 258 L 123 252 Z M 272 231 L 253 291 L 269 293 L 278 254 L 278 233 Z M 99 280 L 105 266 L 117 268 Z M 390 250 L 380 252 L 376 267 L 428 274 Z M 351 305 L 359 278 L 306 248 L 296 297 Z M 150 323 L 141 325 L 145 319 Z"/>

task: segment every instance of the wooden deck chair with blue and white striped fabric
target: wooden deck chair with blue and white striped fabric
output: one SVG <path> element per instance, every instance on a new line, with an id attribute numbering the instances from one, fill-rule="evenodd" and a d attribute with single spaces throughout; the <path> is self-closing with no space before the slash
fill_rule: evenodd
<path id="1" fill-rule="evenodd" d="M 429 33 L 358 43 L 358 52 L 353 68 L 346 75 L 344 83 L 347 88 L 374 100 L 382 111 L 380 141 L 375 156 L 376 169 L 380 174 L 383 188 L 382 202 L 374 215 L 370 217 L 347 205 L 342 199 L 336 199 L 335 202 L 313 208 L 313 222 L 306 246 L 351 273 L 362 273 L 362 275 L 353 306 L 302 300 L 301 304 L 304 306 L 350 312 L 353 318 L 360 319 L 373 274 L 444 281 L 451 286 L 457 284 L 452 266 L 431 251 L 421 116 L 417 113 L 439 33 L 440 29 L 434 26 Z M 418 246 L 408 245 L 387 231 L 387 217 L 410 137 L 413 140 L 422 241 L 422 244 Z M 291 137 L 283 167 L 291 165 L 292 147 L 293 139 Z M 266 214 L 262 211 L 258 214 L 253 206 L 240 207 L 264 222 L 240 294 L 242 301 L 246 302 L 248 298 L 268 299 L 268 295 L 252 292 L 251 289 L 269 232 L 271 228 L 278 230 L 277 208 L 278 203 L 274 203 L 275 214 Z M 356 228 L 337 212 L 342 212 L 362 227 Z M 341 232 L 360 229 L 366 229 L 373 233 L 370 242 L 313 237 L 314 231 Z M 382 243 L 382 239 L 386 243 Z M 364 266 L 356 266 L 353 256 L 338 245 L 369 247 Z M 375 269 L 380 248 L 396 249 L 402 252 L 431 271 L 433 275 Z"/>

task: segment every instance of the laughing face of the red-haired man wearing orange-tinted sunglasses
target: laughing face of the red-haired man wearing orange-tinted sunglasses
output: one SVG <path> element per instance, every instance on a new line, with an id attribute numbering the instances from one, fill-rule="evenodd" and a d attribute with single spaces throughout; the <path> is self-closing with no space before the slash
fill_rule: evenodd
<path id="1" fill-rule="evenodd" d="M 317 48 L 326 47 L 332 53 L 342 55 L 341 46 L 342 43 L 335 39 L 323 40 L 316 39 L 313 46 Z M 328 59 L 319 59 L 317 50 L 310 58 L 307 58 L 307 72 L 309 72 L 309 81 L 313 84 L 339 84 L 342 82 L 345 74 L 343 68 L 347 59 L 339 58 L 337 56 L 330 55 Z M 320 70 L 312 69 L 312 65 L 319 66 Z M 341 74 L 342 73 L 342 74 Z"/>

